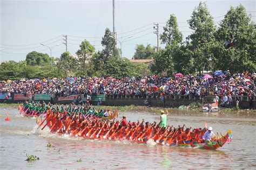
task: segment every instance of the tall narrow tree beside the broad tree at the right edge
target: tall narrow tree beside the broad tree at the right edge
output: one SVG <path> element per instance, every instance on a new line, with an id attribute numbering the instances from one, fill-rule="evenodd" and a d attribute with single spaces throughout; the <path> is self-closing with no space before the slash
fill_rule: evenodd
<path id="1" fill-rule="evenodd" d="M 188 20 L 190 29 L 194 32 L 187 37 L 188 47 L 193 53 L 194 66 L 201 74 L 212 57 L 211 45 L 214 43 L 215 26 L 206 4 L 200 2 L 193 10 Z"/>

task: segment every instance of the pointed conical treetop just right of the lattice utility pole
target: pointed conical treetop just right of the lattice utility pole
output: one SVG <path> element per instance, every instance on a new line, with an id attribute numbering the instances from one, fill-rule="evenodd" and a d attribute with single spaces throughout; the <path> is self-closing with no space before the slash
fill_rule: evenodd
<path id="1" fill-rule="evenodd" d="M 160 35 L 161 43 L 166 45 L 177 45 L 182 42 L 182 33 L 178 30 L 177 18 L 170 15 L 164 26 L 164 32 Z"/>

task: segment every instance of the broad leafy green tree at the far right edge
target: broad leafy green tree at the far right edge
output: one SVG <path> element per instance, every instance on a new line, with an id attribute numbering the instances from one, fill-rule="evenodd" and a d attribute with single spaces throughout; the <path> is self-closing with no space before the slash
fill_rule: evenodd
<path id="1" fill-rule="evenodd" d="M 231 72 L 255 70 L 256 29 L 244 6 L 231 7 L 215 33 L 214 68 Z"/>

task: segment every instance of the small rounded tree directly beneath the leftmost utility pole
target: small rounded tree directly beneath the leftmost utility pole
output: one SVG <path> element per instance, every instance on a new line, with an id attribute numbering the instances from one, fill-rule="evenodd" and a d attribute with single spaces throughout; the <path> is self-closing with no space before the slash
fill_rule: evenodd
<path id="1" fill-rule="evenodd" d="M 75 74 L 76 66 L 77 61 L 69 52 L 64 52 L 60 55 L 57 67 L 65 77 Z"/>

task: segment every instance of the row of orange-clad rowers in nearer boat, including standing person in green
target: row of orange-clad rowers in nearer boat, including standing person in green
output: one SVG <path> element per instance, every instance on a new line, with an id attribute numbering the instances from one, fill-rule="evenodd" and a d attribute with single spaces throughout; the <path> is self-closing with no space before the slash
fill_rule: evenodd
<path id="1" fill-rule="evenodd" d="M 167 126 L 164 111 L 161 111 L 160 122 L 149 123 L 144 122 L 127 122 L 123 116 L 122 121 L 113 120 L 111 123 L 102 122 L 98 118 L 83 119 L 74 114 L 73 116 L 54 116 L 50 114 L 46 119 L 51 132 L 71 133 L 72 136 L 80 136 L 86 138 L 107 138 L 113 140 L 132 140 L 145 142 L 153 139 L 166 144 L 184 144 L 204 143 L 210 141 L 213 136 L 212 128 L 192 129 L 182 127 L 174 128 Z M 49 123 L 50 122 L 50 123 Z M 192 129 L 192 130 L 191 130 Z"/>

